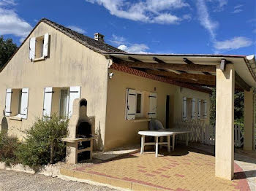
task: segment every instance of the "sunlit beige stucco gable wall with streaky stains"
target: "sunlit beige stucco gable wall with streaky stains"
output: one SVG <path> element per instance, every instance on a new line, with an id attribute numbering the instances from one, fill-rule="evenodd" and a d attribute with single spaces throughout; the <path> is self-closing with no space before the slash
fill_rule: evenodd
<path id="1" fill-rule="evenodd" d="M 44 87 L 81 86 L 81 98 L 87 99 L 88 115 L 95 116 L 96 131 L 104 142 L 108 60 L 45 23 L 40 23 L 31 37 L 46 33 L 50 34 L 49 58 L 31 62 L 27 39 L 0 73 L 1 111 L 4 111 L 7 88 L 29 87 L 28 119 L 14 121 L 7 117 L 9 133 L 22 138 L 22 131 L 32 125 L 35 117 L 42 117 Z"/>

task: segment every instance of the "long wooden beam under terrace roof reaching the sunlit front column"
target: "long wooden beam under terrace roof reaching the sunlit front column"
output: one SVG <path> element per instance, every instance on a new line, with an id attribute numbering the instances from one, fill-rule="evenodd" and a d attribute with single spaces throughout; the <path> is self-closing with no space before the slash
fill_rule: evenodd
<path id="1" fill-rule="evenodd" d="M 112 57 L 113 58 L 113 57 Z M 215 65 L 201 65 L 201 64 L 178 64 L 178 63 L 143 63 L 140 61 L 127 62 L 121 59 L 113 58 L 113 62 L 120 66 L 127 66 L 139 69 L 172 69 L 177 71 L 206 71 L 210 73 L 216 72 Z"/>

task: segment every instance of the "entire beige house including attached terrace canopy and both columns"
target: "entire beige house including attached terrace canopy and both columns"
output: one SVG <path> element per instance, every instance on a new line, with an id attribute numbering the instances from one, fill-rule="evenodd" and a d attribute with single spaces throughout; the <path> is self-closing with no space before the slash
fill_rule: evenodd
<path id="1" fill-rule="evenodd" d="M 24 136 L 36 117 L 72 116 L 86 98 L 97 149 L 139 143 L 138 130 L 157 119 L 209 124 L 210 93 L 217 87 L 216 174 L 233 177 L 234 90 L 245 93 L 244 146 L 252 149 L 256 61 L 244 55 L 133 54 L 42 19 L 0 72 L 1 129 Z M 223 147 L 225 145 L 225 147 Z"/>

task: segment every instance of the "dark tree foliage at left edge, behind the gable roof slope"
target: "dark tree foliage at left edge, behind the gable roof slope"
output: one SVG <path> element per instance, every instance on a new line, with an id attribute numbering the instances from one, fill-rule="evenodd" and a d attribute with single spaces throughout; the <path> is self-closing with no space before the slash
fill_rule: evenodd
<path id="1" fill-rule="evenodd" d="M 0 36 L 0 69 L 9 61 L 17 48 L 12 39 L 4 39 L 4 36 Z"/>

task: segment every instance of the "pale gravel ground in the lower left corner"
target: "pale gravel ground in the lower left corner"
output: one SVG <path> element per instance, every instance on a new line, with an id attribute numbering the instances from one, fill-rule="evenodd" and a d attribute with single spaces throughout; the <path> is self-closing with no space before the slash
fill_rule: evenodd
<path id="1" fill-rule="evenodd" d="M 99 185 L 65 181 L 39 174 L 0 170 L 0 190 L 106 190 L 115 189 Z"/>

